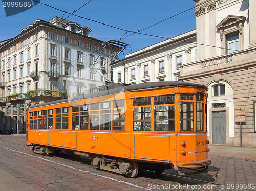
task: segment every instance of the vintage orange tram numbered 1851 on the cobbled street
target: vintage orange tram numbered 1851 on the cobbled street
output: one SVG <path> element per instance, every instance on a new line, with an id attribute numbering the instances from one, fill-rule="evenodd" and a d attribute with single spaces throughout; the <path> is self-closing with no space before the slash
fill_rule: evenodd
<path id="1" fill-rule="evenodd" d="M 206 96 L 203 85 L 151 82 L 34 105 L 26 144 L 40 154 L 87 157 L 127 177 L 172 166 L 182 175 L 201 173 L 211 164 Z"/>

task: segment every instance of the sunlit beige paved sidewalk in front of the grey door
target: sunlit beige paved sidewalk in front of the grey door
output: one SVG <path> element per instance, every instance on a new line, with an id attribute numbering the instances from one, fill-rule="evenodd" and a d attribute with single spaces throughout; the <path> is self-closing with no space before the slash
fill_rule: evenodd
<path id="1" fill-rule="evenodd" d="M 234 146 L 222 146 L 222 145 L 209 145 L 210 156 L 242 159 L 256 162 L 256 148 L 253 147 L 234 147 Z"/>

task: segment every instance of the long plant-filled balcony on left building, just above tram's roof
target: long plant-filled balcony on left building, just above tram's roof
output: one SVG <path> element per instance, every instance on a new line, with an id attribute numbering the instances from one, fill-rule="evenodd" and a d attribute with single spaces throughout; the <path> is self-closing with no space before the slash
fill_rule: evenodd
<path id="1" fill-rule="evenodd" d="M 38 96 L 65 98 L 66 93 L 64 91 L 55 91 L 55 90 L 48 90 L 48 89 L 36 89 L 32 91 L 27 91 L 28 98 L 38 97 Z"/>

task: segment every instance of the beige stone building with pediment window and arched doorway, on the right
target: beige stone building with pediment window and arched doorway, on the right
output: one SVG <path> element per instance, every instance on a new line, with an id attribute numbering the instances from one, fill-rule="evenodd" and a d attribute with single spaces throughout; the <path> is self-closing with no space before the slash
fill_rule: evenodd
<path id="1" fill-rule="evenodd" d="M 114 80 L 130 84 L 179 80 L 206 85 L 210 142 L 256 147 L 256 2 L 195 2 L 195 31 L 126 55 L 112 65 Z M 167 45 L 172 39 L 176 41 Z M 166 68 L 163 79 L 161 60 Z"/>

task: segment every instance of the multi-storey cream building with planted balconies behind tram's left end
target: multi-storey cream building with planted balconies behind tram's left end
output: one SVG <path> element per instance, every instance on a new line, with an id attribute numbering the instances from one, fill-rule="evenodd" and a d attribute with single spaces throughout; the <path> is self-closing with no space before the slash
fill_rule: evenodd
<path id="1" fill-rule="evenodd" d="M 90 37 L 91 29 L 54 17 L 36 20 L 0 43 L 1 128 L 24 132 L 26 108 L 90 93 L 112 78 L 120 48 Z M 101 54 L 100 54 L 101 52 Z"/>

